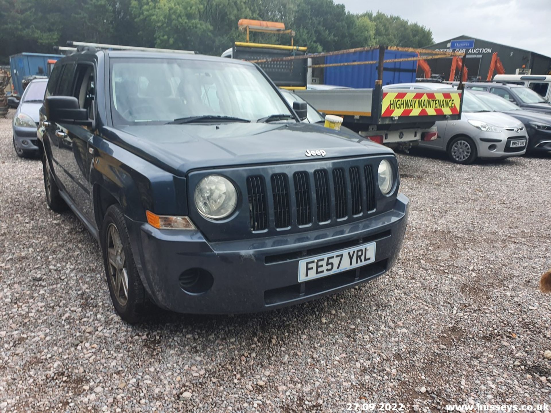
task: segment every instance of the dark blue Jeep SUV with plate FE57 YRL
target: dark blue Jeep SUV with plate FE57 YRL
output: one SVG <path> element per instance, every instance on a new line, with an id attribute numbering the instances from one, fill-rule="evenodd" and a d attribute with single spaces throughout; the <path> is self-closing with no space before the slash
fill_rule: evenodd
<path id="1" fill-rule="evenodd" d="M 40 110 L 47 204 L 98 239 L 116 311 L 256 312 L 387 271 L 406 230 L 396 157 L 301 123 L 255 64 L 77 51 Z"/>

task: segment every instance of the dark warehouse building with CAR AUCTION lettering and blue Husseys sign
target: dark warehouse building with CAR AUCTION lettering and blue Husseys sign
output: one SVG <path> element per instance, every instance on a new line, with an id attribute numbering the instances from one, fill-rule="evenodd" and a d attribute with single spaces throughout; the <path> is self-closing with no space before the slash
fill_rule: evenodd
<path id="1" fill-rule="evenodd" d="M 469 79 L 479 77 L 486 80 L 494 53 L 498 53 L 506 74 L 551 74 L 551 57 L 482 39 L 474 39 L 472 36 L 454 37 L 425 48 L 467 53 L 466 66 L 469 70 Z M 433 59 L 427 63 L 433 74 L 441 74 L 446 80 L 450 77 L 451 58 Z M 417 75 L 423 77 L 423 72 L 419 68 Z"/>

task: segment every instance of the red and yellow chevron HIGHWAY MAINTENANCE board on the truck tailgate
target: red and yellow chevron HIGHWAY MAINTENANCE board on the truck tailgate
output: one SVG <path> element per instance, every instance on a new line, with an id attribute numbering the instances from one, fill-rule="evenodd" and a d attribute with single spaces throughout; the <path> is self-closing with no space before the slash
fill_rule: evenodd
<path id="1" fill-rule="evenodd" d="M 385 92 L 382 94 L 382 115 L 431 116 L 457 115 L 461 104 L 461 92 Z"/>

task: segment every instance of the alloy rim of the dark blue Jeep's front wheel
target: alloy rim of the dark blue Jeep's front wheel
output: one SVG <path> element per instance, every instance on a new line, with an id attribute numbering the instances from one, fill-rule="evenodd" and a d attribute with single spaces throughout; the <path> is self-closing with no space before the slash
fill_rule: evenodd
<path id="1" fill-rule="evenodd" d="M 125 306 L 128 302 L 128 269 L 121 235 L 115 224 L 107 227 L 107 268 L 115 297 L 121 306 Z"/>

